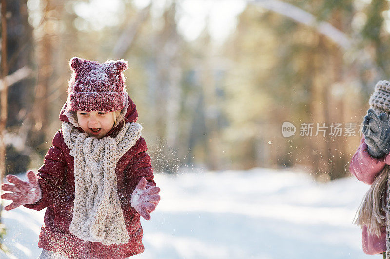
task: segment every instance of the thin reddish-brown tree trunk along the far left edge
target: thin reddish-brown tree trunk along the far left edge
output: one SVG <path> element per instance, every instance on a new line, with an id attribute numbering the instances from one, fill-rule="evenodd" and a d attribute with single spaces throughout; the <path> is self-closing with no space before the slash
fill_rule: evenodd
<path id="1" fill-rule="evenodd" d="M 7 1 L 1 0 L 1 111 L 0 111 L 0 184 L 3 182 L 5 175 L 5 143 L 4 134 L 7 125 L 7 106 L 8 106 L 8 86 L 6 76 L 8 75 L 7 64 Z M 3 205 L 0 206 L 0 223 Z"/>

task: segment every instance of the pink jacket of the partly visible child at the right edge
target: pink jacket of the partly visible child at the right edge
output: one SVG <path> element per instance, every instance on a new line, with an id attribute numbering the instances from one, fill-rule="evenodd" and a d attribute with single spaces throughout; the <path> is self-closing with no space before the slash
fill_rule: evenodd
<path id="1" fill-rule="evenodd" d="M 350 163 L 350 172 L 356 178 L 366 184 L 371 185 L 376 176 L 386 166 L 390 165 L 390 153 L 380 159 L 370 156 L 367 152 L 367 144 L 364 137 L 360 140 L 360 145 L 353 155 Z M 386 228 L 383 227 L 381 236 L 370 235 L 367 227 L 363 227 L 362 233 L 363 251 L 369 255 L 381 254 L 386 251 Z"/>

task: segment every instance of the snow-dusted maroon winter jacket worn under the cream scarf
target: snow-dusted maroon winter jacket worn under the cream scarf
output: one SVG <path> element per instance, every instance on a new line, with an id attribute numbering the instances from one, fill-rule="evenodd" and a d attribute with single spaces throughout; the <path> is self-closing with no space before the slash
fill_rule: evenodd
<path id="1" fill-rule="evenodd" d="M 137 107 L 128 97 L 129 107 L 125 115 L 126 122 L 136 122 Z M 64 114 L 66 104 L 60 114 L 61 121 L 69 121 Z M 111 129 L 106 136 L 115 137 L 123 124 Z M 78 128 L 83 132 L 81 128 Z M 130 205 L 130 195 L 141 177 L 149 184 L 153 181 L 150 157 L 146 153 L 147 146 L 141 137 L 125 155 L 117 162 L 117 193 L 121 202 L 126 229 L 130 236 L 127 244 L 103 245 L 101 242 L 90 242 L 79 239 L 69 231 L 73 215 L 75 198 L 74 164 L 69 148 L 64 142 L 62 131 L 53 138 L 53 146 L 45 155 L 45 162 L 38 169 L 38 183 L 42 190 L 42 198 L 24 207 L 41 210 L 47 207 L 42 231 L 39 235 L 38 247 L 68 258 L 121 259 L 142 253 L 142 226 L 140 214 Z"/>

